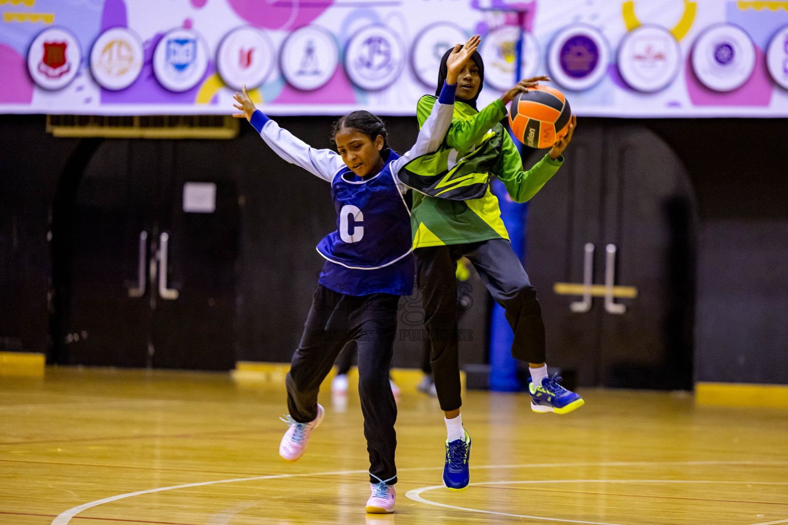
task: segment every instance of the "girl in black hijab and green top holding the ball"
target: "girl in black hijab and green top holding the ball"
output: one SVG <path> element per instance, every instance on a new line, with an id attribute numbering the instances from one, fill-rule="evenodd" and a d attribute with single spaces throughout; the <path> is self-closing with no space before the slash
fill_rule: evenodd
<path id="1" fill-rule="evenodd" d="M 449 53 L 440 61 L 439 87 L 446 78 Z M 548 78 L 521 80 L 480 112 L 476 99 L 484 81 L 484 64 L 478 52 L 472 58 L 459 74 L 452 125 L 440 149 L 400 171 L 400 180 L 418 190 L 414 191 L 411 211 L 413 253 L 426 313 L 424 324 L 432 340 L 430 364 L 448 430 L 443 479 L 452 490 L 463 490 L 470 481 L 470 435 L 459 415 L 462 399 L 455 278 L 459 257 L 474 264 L 492 298 L 506 310 L 515 333 L 512 356 L 530 365 L 531 408 L 566 413 L 583 404 L 582 397 L 559 385 L 559 378 L 547 375 L 545 324 L 536 290 L 511 249 L 498 199 L 489 190 L 490 176 L 496 176 L 512 200 L 532 198 L 563 163 L 561 153 L 572 138 L 576 120 L 573 116 L 566 137 L 545 157 L 523 170 L 520 153 L 500 120 L 512 98 Z M 419 126 L 435 101 L 431 95 L 418 101 Z"/>

